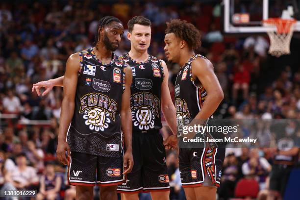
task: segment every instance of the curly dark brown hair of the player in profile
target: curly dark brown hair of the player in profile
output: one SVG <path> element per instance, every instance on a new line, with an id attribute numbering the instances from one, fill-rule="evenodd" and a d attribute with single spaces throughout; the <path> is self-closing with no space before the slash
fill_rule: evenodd
<path id="1" fill-rule="evenodd" d="M 177 37 L 187 42 L 189 48 L 197 50 L 201 46 L 200 31 L 185 20 L 171 20 L 167 22 L 165 33 L 174 33 Z"/>

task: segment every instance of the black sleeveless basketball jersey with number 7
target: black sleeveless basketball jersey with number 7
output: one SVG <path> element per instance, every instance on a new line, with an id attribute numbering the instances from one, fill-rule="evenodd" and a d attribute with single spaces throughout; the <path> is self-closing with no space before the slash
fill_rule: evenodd
<path id="1" fill-rule="evenodd" d="M 127 54 L 119 57 L 132 69 L 130 108 L 132 112 L 132 130 L 159 130 L 160 92 L 164 78 L 161 61 L 149 55 L 145 62 L 137 62 Z"/>

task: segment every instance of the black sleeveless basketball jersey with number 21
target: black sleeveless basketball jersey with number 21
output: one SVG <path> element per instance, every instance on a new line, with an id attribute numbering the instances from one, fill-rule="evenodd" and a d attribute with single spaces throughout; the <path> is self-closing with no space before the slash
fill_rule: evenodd
<path id="1" fill-rule="evenodd" d="M 79 58 L 75 111 L 67 142 L 71 151 L 119 157 L 123 150 L 120 109 L 125 63 L 113 54 L 109 64 L 102 64 L 93 48 L 80 51 Z"/>

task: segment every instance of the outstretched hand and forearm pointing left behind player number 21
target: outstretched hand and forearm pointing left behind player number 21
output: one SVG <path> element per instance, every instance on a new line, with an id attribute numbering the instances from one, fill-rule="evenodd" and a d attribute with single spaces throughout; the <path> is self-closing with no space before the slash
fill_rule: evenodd
<path id="1" fill-rule="evenodd" d="M 63 87 L 63 81 L 64 81 L 64 75 L 58 78 L 37 82 L 32 85 L 32 92 L 34 92 L 35 90 L 38 96 L 40 96 L 41 95 L 40 89 L 44 87 L 46 90 L 43 92 L 42 96 L 45 96 L 52 90 L 54 86 Z"/>

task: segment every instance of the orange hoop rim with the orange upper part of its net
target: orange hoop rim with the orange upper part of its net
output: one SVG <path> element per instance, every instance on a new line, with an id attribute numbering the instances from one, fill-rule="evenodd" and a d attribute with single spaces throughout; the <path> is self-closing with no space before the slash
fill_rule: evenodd
<path id="1" fill-rule="evenodd" d="M 275 25 L 279 34 L 289 33 L 291 26 L 294 25 L 297 20 L 294 19 L 282 19 L 282 18 L 269 18 L 262 21 L 263 24 Z"/>

